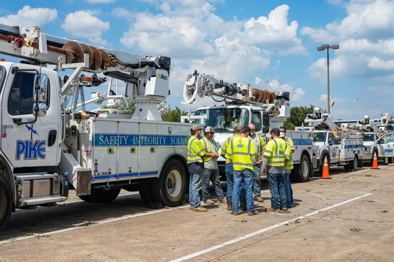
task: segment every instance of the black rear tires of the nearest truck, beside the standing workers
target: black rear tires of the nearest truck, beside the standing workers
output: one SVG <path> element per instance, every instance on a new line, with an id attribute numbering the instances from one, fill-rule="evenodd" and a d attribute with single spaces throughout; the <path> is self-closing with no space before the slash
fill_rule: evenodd
<path id="1" fill-rule="evenodd" d="M 177 159 L 171 159 L 163 168 L 159 178 L 152 179 L 154 202 L 164 206 L 181 205 L 186 192 L 186 170 Z"/>

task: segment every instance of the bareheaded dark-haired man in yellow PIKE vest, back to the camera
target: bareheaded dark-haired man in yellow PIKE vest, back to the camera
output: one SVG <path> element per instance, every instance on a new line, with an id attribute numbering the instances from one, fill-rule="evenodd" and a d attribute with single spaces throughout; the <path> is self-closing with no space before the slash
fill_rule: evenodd
<path id="1" fill-rule="evenodd" d="M 234 168 L 234 190 L 232 192 L 232 202 L 238 203 L 240 197 L 240 186 L 242 180 L 245 182 L 246 205 L 248 215 L 258 214 L 253 206 L 253 163 L 256 150 L 252 141 L 247 137 L 250 134 L 250 127 L 243 126 L 240 137 L 230 141 L 226 158 L 230 160 Z M 238 205 L 232 206 L 230 214 L 238 215 Z"/>

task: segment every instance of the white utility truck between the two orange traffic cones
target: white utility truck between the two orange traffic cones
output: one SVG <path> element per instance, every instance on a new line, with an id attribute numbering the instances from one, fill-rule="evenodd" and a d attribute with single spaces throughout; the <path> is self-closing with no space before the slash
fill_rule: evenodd
<path id="1" fill-rule="evenodd" d="M 311 128 L 304 132 L 313 132 L 314 144 L 319 147 L 318 167 L 323 174 L 324 158 L 327 156 L 328 166 L 343 166 L 346 171 L 362 167 L 365 149 L 362 136 L 342 131 L 332 119 L 319 107 L 314 108 L 314 114 L 308 114 L 304 120 Z M 305 130 L 308 128 L 296 128 Z"/>

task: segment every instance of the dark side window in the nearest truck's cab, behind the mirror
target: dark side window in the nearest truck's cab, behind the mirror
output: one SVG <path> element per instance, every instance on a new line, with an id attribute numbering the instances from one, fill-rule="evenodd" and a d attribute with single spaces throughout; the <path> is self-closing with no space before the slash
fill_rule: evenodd
<path id="1" fill-rule="evenodd" d="M 48 82 L 49 94 L 49 82 Z M 34 102 L 34 74 L 16 73 L 8 97 L 8 112 L 11 115 L 33 114 Z M 46 105 L 49 104 L 49 96 Z"/>

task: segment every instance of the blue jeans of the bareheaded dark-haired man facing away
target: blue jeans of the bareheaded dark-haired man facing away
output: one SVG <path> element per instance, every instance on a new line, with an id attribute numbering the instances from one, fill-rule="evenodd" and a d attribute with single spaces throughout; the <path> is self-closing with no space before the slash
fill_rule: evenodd
<path id="1" fill-rule="evenodd" d="M 246 189 L 246 206 L 247 213 L 255 212 L 253 207 L 253 175 L 252 170 L 245 168 L 243 170 L 234 170 L 234 194 L 232 195 L 232 200 L 234 203 L 238 203 L 240 195 L 240 186 L 242 181 L 245 182 Z M 238 213 L 238 206 L 232 205 L 232 213 Z"/>

